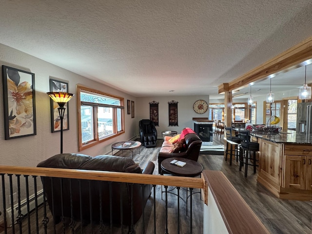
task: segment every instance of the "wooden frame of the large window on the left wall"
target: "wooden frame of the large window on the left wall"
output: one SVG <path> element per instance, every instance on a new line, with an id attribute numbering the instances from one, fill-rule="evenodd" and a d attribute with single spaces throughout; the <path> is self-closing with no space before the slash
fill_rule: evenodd
<path id="1" fill-rule="evenodd" d="M 115 105 L 107 105 L 107 104 L 100 104 L 100 103 L 93 103 L 93 102 L 84 102 L 80 100 L 80 94 L 81 91 L 94 94 L 94 95 L 101 95 L 101 96 L 106 96 L 108 98 L 116 98 L 120 101 L 120 106 L 115 106 Z M 87 106 L 91 106 L 93 108 L 93 134 L 94 134 L 94 139 L 82 143 L 82 128 L 81 128 L 81 106 L 83 103 L 89 104 Z M 124 126 L 124 98 L 118 97 L 116 95 L 104 93 L 95 89 L 91 89 L 82 85 L 77 85 L 77 113 L 78 113 L 78 142 L 79 142 L 79 150 L 82 151 L 85 149 L 88 149 L 94 145 L 97 145 L 99 143 L 105 142 L 109 139 L 112 139 L 114 137 L 118 137 L 119 135 L 123 134 L 125 132 L 125 126 Z M 111 107 L 113 108 L 113 134 L 108 135 L 107 137 L 98 137 L 98 107 Z M 121 110 L 121 131 L 117 131 L 117 109 Z"/>

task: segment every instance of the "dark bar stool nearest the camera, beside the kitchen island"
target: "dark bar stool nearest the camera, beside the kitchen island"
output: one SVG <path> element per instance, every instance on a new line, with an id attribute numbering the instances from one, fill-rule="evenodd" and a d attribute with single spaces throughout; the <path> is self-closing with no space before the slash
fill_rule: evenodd
<path id="1" fill-rule="evenodd" d="M 239 171 L 242 170 L 243 164 L 245 164 L 245 177 L 247 177 L 248 165 L 254 166 L 254 173 L 256 173 L 256 157 L 255 153 L 259 151 L 259 143 L 250 141 L 250 132 L 248 130 L 239 130 L 239 137 L 241 139 L 239 149 Z M 253 164 L 249 163 L 251 154 L 253 153 Z M 245 159 L 245 161 L 244 161 Z"/>

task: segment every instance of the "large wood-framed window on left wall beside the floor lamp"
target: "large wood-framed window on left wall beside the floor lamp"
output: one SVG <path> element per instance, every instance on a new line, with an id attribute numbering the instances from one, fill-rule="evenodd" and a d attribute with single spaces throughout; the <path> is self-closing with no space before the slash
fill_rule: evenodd
<path id="1" fill-rule="evenodd" d="M 79 151 L 124 133 L 124 99 L 77 86 Z"/>

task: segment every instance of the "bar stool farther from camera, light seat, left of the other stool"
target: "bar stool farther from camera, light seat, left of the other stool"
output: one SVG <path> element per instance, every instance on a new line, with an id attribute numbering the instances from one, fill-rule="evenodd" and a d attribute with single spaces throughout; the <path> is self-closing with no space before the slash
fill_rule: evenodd
<path id="1" fill-rule="evenodd" d="M 238 146 L 241 142 L 240 137 L 235 137 L 235 131 L 232 127 L 224 127 L 225 136 L 226 136 L 226 149 L 225 149 L 225 161 L 228 160 L 228 155 L 230 155 L 230 166 L 232 165 L 233 158 L 233 146 L 234 154 L 236 157 L 236 162 L 238 162 Z M 230 150 L 230 153 L 229 153 Z"/>

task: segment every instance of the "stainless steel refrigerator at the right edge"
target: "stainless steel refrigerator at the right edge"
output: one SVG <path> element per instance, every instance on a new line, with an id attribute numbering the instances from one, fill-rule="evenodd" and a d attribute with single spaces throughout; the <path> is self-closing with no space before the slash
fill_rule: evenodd
<path id="1" fill-rule="evenodd" d="M 312 133 L 312 102 L 297 103 L 297 133 Z"/>

